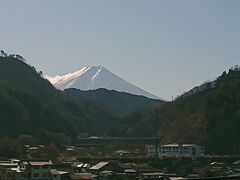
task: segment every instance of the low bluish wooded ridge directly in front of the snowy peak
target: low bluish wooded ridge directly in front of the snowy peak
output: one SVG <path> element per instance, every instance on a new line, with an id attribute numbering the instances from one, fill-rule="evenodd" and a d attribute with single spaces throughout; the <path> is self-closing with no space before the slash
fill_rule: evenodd
<path id="1" fill-rule="evenodd" d="M 80 102 L 92 101 L 96 104 L 102 104 L 102 106 L 120 114 L 151 109 L 164 103 L 164 101 L 149 99 L 145 96 L 137 96 L 107 89 L 82 91 L 70 88 L 65 89 L 63 93 Z"/>

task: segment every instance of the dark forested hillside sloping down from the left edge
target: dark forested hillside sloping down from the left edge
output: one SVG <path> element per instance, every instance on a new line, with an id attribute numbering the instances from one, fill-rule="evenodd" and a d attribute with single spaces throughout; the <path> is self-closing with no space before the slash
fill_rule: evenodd
<path id="1" fill-rule="evenodd" d="M 81 133 L 101 135 L 119 118 L 94 102 L 77 102 L 57 91 L 23 61 L 0 57 L 0 137 L 63 133 L 77 138 Z M 93 113 L 94 112 L 94 113 Z M 45 137 L 44 142 L 49 139 Z"/>

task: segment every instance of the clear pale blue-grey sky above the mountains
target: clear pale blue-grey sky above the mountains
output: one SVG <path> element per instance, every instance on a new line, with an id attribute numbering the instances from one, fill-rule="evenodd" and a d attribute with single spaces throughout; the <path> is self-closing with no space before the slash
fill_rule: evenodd
<path id="1" fill-rule="evenodd" d="M 0 49 L 48 75 L 102 65 L 171 99 L 240 64 L 240 1 L 0 0 Z"/>

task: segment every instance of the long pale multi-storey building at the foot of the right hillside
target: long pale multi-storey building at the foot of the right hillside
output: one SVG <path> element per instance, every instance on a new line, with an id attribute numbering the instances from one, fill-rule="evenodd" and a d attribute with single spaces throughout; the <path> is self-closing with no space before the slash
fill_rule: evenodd
<path id="1" fill-rule="evenodd" d="M 147 156 L 156 155 L 156 146 L 146 146 Z M 204 156 L 203 146 L 196 144 L 167 144 L 159 146 L 157 149 L 159 156 Z"/>

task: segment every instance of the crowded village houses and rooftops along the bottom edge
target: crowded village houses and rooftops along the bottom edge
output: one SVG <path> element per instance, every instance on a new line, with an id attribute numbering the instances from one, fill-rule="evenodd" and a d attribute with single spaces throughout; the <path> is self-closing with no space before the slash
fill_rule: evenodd
<path id="1" fill-rule="evenodd" d="M 240 160 L 233 163 L 214 161 L 204 166 L 194 163 L 195 170 L 182 176 L 156 169 L 148 163 L 124 163 L 118 160 L 73 161 L 53 164 L 51 161 L 10 159 L 0 161 L 0 179 L 3 180 L 204 180 L 240 179 Z M 211 178 L 203 176 L 208 172 Z"/>

